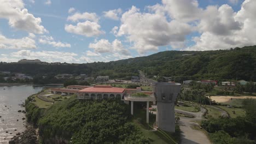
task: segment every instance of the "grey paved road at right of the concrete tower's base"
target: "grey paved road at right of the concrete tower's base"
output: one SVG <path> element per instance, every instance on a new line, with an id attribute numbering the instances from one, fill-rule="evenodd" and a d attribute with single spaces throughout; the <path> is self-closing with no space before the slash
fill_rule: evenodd
<path id="1" fill-rule="evenodd" d="M 179 121 L 181 131 L 182 131 L 182 144 L 196 144 L 196 143 L 211 143 L 208 137 L 202 133 L 200 130 L 194 130 L 191 126 L 194 126 L 196 123 L 193 121 L 201 121 L 203 113 L 206 112 L 206 109 L 201 107 L 200 112 L 188 112 L 182 110 L 175 110 L 180 113 L 189 114 L 195 116 L 195 118 L 187 118 L 187 117 L 180 117 L 181 120 Z"/>

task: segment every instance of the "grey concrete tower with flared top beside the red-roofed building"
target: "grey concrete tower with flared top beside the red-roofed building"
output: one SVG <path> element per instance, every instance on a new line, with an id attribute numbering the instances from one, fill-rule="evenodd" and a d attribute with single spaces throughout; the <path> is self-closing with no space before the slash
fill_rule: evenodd
<path id="1" fill-rule="evenodd" d="M 174 101 L 181 91 L 180 83 L 152 83 L 157 103 L 156 125 L 165 131 L 175 131 Z"/>

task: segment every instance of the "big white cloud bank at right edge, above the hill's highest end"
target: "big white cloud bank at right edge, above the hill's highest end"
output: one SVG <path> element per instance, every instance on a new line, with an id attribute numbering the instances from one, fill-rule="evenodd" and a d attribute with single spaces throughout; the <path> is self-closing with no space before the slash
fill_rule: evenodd
<path id="1" fill-rule="evenodd" d="M 230 47 L 237 46 L 255 45 L 255 5 L 256 1 L 246 0 L 243 2 L 241 10 L 237 13 L 232 13 L 232 9 L 228 5 L 222 5 L 218 9 L 218 13 L 215 14 L 217 17 L 221 18 L 213 21 L 212 27 L 214 27 L 214 23 L 224 23 L 224 29 L 220 28 L 224 34 L 223 32 L 211 31 L 210 28 L 202 29 L 201 36 L 194 38 L 196 44 L 184 50 L 218 50 L 230 49 Z M 236 23 L 240 23 L 239 28 Z"/>

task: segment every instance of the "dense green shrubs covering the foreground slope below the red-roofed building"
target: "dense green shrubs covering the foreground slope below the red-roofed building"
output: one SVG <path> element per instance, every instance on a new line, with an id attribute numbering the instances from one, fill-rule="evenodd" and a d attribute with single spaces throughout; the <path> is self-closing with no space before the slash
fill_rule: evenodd
<path id="1" fill-rule="evenodd" d="M 28 112 L 37 111 L 26 105 Z M 37 114 L 28 118 L 37 124 L 41 143 L 149 143 L 129 122 L 129 106 L 120 100 L 79 101 L 72 97 Z"/>

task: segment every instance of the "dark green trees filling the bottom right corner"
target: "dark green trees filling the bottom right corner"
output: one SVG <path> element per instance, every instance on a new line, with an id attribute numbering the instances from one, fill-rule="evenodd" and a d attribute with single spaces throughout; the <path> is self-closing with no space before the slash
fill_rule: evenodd
<path id="1" fill-rule="evenodd" d="M 256 100 L 243 100 L 246 117 L 221 117 L 202 121 L 213 143 L 256 143 Z"/>

